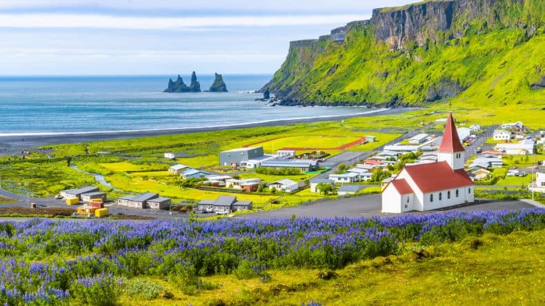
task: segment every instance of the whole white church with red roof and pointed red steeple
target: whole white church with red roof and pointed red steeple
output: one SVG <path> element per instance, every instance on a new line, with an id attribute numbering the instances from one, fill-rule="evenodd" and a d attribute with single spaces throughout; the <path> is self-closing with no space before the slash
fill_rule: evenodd
<path id="1" fill-rule="evenodd" d="M 464 170 L 464 154 L 450 113 L 437 163 L 404 167 L 382 192 L 382 212 L 422 212 L 472 203 L 475 184 Z"/>

